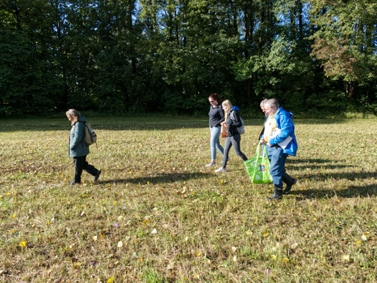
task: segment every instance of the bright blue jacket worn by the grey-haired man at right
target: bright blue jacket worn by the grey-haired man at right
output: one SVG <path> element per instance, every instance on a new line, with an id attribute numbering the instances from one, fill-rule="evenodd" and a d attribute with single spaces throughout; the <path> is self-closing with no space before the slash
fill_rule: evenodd
<path id="1" fill-rule="evenodd" d="M 269 140 L 269 144 L 272 146 L 284 141 L 287 137 L 291 136 L 293 139 L 284 149 L 284 154 L 296 156 L 298 149 L 296 135 L 294 134 L 294 122 L 292 122 L 293 114 L 287 112 L 283 108 L 279 108 L 277 112 L 272 116 L 277 121 L 277 127 L 280 129 L 280 134 L 277 137 L 273 137 Z M 268 121 L 270 117 L 267 117 Z"/>

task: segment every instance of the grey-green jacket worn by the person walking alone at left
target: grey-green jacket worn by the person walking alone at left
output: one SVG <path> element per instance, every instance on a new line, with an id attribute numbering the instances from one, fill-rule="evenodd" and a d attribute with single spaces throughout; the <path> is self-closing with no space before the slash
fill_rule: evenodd
<path id="1" fill-rule="evenodd" d="M 77 122 L 72 125 L 69 133 L 69 156 L 71 157 L 87 156 L 89 154 L 89 146 L 84 141 L 84 122 L 86 122 L 86 119 L 80 116 Z"/>

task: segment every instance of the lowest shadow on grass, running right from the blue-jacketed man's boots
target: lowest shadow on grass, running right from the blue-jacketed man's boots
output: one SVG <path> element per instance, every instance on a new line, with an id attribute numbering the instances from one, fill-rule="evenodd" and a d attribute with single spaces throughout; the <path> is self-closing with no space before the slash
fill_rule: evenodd
<path id="1" fill-rule="evenodd" d="M 330 197 L 354 198 L 377 195 L 376 185 L 350 185 L 344 190 L 292 190 L 290 195 L 304 199 L 321 199 Z"/>

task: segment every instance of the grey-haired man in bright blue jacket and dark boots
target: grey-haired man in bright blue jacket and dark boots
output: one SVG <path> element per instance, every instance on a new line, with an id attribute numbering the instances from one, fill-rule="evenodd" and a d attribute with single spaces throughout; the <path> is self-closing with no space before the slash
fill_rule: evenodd
<path id="1" fill-rule="evenodd" d="M 267 100 L 265 111 L 268 117 L 260 143 L 268 145 L 269 173 L 274 183 L 274 195 L 269 200 L 274 200 L 282 198 L 283 182 L 286 183 L 284 194 L 296 184 L 296 179 L 286 173 L 284 166 L 288 155 L 296 156 L 298 146 L 292 122 L 293 114 L 281 108 L 275 98 Z"/>

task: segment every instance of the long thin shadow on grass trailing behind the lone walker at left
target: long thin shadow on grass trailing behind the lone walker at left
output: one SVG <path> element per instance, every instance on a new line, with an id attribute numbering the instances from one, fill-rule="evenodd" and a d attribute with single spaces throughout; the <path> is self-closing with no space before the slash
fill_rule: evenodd
<path id="1" fill-rule="evenodd" d="M 174 183 L 174 182 L 182 182 L 192 179 L 199 179 L 199 178 L 208 178 L 212 174 L 210 173 L 166 173 L 166 174 L 157 174 L 156 176 L 145 176 L 145 177 L 138 177 L 138 178 L 124 178 L 124 179 L 114 179 L 114 180 L 100 180 L 98 184 L 105 184 L 105 183 L 132 183 L 132 184 L 141 184 L 145 185 L 146 183 L 159 184 L 159 183 Z"/>

